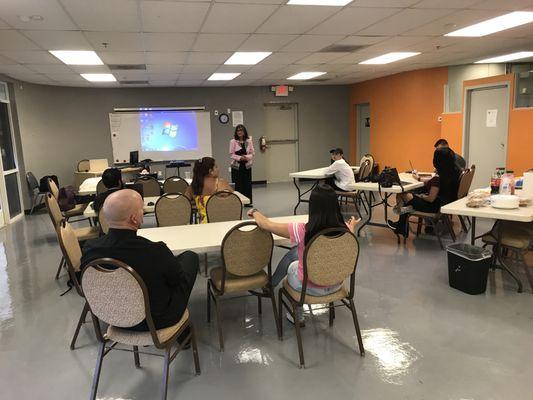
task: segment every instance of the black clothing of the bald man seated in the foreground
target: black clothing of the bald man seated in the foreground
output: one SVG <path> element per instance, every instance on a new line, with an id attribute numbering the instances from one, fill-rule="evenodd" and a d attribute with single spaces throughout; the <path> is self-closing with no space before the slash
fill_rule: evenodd
<path id="1" fill-rule="evenodd" d="M 82 268 L 89 261 L 102 257 L 122 261 L 141 276 L 148 289 L 156 329 L 172 326 L 180 320 L 192 288 L 178 259 L 164 243 L 137 236 L 132 230 L 110 229 L 107 235 L 85 244 Z M 140 325 L 146 327 L 145 322 L 137 327 Z"/>

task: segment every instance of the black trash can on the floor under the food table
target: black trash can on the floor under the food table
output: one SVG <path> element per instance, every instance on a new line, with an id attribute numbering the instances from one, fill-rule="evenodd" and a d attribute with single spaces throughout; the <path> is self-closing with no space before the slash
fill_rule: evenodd
<path id="1" fill-rule="evenodd" d="M 454 243 L 446 249 L 450 286 L 468 294 L 485 293 L 492 252 L 467 243 Z"/>

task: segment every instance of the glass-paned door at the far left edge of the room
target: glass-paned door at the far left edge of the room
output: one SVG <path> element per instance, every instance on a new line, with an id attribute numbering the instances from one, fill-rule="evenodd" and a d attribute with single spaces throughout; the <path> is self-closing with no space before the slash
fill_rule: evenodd
<path id="1" fill-rule="evenodd" d="M 0 82 L 0 183 L 3 217 L 7 222 L 22 215 L 22 199 L 7 84 Z"/>

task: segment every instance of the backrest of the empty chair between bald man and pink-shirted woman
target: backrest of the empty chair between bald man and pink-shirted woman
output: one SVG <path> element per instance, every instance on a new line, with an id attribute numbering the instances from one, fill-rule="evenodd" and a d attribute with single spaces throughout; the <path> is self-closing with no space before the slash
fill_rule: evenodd
<path id="1" fill-rule="evenodd" d="M 222 240 L 224 273 L 250 276 L 269 267 L 272 260 L 274 239 L 255 222 L 242 222 L 234 226 Z"/>

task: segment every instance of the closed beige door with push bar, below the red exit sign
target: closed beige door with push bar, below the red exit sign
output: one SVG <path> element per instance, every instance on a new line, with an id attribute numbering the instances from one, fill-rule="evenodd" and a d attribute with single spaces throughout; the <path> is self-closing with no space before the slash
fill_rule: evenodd
<path id="1" fill-rule="evenodd" d="M 298 109 L 296 104 L 265 104 L 267 182 L 289 181 L 298 171 Z"/>

